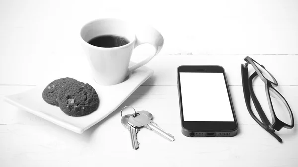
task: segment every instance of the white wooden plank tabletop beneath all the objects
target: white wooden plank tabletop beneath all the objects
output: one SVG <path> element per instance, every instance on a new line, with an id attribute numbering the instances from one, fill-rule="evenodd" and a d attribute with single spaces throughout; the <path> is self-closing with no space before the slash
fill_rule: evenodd
<path id="1" fill-rule="evenodd" d="M 58 72 L 88 72 L 77 41 L 80 26 L 98 17 L 132 15 L 132 20 L 160 30 L 165 45 L 146 65 L 154 75 L 101 122 L 76 134 L 3 101 L 5 95 L 32 89 Z M 263 64 L 277 79 L 297 122 L 297 1 L 3 0 L 0 22 L 0 167 L 298 165 L 297 123 L 276 132 L 282 144 L 262 129 L 246 109 L 240 70 L 245 56 Z M 150 49 L 138 47 L 132 60 L 144 58 Z M 84 68 L 70 68 L 79 63 Z M 188 138 L 181 133 L 176 68 L 207 64 L 226 70 L 239 123 L 235 137 Z M 254 89 L 266 105 L 260 80 Z M 142 129 L 140 148 L 133 150 L 120 123 L 126 105 L 153 113 L 175 141 Z"/>

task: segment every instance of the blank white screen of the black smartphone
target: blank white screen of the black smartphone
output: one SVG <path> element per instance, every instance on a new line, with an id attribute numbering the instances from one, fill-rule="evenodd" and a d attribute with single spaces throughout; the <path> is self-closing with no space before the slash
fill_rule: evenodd
<path id="1" fill-rule="evenodd" d="M 184 121 L 233 122 L 224 73 L 180 72 Z"/>

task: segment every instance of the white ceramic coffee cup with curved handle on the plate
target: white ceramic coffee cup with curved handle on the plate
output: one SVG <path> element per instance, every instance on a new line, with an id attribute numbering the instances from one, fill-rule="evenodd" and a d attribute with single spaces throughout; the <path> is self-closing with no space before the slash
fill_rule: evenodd
<path id="1" fill-rule="evenodd" d="M 94 80 L 100 85 L 114 85 L 123 82 L 132 71 L 145 65 L 156 56 L 164 42 L 162 35 L 152 27 L 133 26 L 127 21 L 115 18 L 93 20 L 82 27 L 80 35 Z M 97 47 L 88 43 L 92 38 L 102 35 L 125 37 L 129 43 L 112 48 Z M 154 46 L 154 54 L 129 67 L 133 49 L 145 43 Z"/>

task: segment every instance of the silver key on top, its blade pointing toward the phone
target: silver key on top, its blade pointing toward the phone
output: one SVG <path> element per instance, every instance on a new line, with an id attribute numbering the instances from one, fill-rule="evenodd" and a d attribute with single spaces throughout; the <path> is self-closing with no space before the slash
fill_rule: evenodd
<path id="1" fill-rule="evenodd" d="M 135 128 L 145 127 L 149 130 L 153 130 L 155 133 L 159 134 L 160 136 L 164 137 L 165 139 L 167 139 L 169 141 L 175 140 L 173 135 L 162 130 L 159 126 L 157 126 L 156 123 L 153 122 L 152 119 L 150 119 L 150 117 L 153 118 L 153 116 L 151 116 L 152 114 L 150 114 L 148 111 L 146 111 L 148 113 L 146 113 L 144 111 L 142 111 L 142 112 L 139 111 L 138 112 L 139 114 L 136 115 L 135 117 L 130 116 L 127 121 L 128 124 L 130 124 L 131 126 L 133 126 Z"/>

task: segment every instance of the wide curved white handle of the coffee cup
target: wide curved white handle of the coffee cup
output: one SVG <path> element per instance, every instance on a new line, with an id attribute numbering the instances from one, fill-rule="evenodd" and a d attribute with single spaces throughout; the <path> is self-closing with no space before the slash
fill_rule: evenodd
<path id="1" fill-rule="evenodd" d="M 149 26 L 137 28 L 134 48 L 136 48 L 141 44 L 151 44 L 155 48 L 155 51 L 152 56 L 149 56 L 145 60 L 129 67 L 128 74 L 130 74 L 132 71 L 136 70 L 137 68 L 140 68 L 141 66 L 147 64 L 154 56 L 156 56 L 161 50 L 163 46 L 163 42 L 164 40 L 162 35 L 155 28 L 149 27 Z"/>

